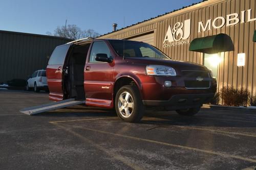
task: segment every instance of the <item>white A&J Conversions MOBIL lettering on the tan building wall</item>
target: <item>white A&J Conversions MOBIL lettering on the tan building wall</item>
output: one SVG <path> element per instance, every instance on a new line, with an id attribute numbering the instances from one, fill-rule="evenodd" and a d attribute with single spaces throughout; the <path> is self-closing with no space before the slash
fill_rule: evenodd
<path id="1" fill-rule="evenodd" d="M 247 17 L 246 16 L 247 13 Z M 247 18 L 247 20 L 245 19 Z M 238 13 L 228 14 L 226 17 L 219 16 L 215 19 L 208 19 L 205 23 L 203 21 L 198 22 L 198 32 L 205 32 L 211 29 L 219 29 L 226 25 L 226 27 L 237 25 L 240 23 L 255 21 L 256 18 L 252 18 L 251 9 L 247 11 L 241 11 L 240 17 Z M 218 22 L 220 21 L 220 22 Z M 164 36 L 163 47 L 172 47 L 175 45 L 188 44 L 191 30 L 191 19 L 184 20 L 184 22 L 177 22 L 174 26 L 169 26 Z"/>

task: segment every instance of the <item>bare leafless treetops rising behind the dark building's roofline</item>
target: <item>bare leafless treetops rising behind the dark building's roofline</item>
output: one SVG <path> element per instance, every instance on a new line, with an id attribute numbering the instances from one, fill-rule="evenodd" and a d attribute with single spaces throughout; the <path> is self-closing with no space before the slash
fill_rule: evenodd
<path id="1" fill-rule="evenodd" d="M 52 33 L 47 32 L 47 35 L 52 35 Z M 88 29 L 82 31 L 79 27 L 76 25 L 68 25 L 67 27 L 61 26 L 57 27 L 54 30 L 54 36 L 57 37 L 65 37 L 69 39 L 81 39 L 86 37 L 97 37 L 99 36 L 99 33 L 95 32 L 93 29 Z"/>

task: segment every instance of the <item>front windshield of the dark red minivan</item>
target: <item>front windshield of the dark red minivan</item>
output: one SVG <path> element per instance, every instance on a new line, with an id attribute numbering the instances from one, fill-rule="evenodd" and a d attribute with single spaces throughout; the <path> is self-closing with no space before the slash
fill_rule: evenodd
<path id="1" fill-rule="evenodd" d="M 170 59 L 150 44 L 127 40 L 109 40 L 115 52 L 124 57 L 147 57 L 154 59 Z"/>

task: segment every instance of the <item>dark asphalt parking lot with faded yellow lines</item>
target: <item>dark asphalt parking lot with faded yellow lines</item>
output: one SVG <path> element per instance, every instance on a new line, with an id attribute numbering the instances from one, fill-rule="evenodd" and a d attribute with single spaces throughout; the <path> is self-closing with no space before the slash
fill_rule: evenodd
<path id="1" fill-rule="evenodd" d="M 74 106 L 34 116 L 47 93 L 0 90 L 0 169 L 254 169 L 256 111 L 147 111 L 141 123 Z"/>

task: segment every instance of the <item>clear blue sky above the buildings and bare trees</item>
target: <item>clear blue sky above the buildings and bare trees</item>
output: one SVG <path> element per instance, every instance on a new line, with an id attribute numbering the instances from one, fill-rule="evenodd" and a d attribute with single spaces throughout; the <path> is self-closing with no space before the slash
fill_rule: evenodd
<path id="1" fill-rule="evenodd" d="M 99 34 L 156 17 L 202 0 L 0 0 L 0 30 L 53 33 L 57 26 L 77 25 Z"/>

